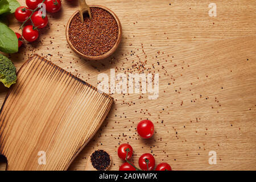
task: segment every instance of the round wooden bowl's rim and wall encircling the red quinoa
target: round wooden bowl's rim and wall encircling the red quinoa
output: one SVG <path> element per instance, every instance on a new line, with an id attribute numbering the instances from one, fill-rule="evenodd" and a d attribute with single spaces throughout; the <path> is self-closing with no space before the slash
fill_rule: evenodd
<path id="1" fill-rule="evenodd" d="M 70 42 L 69 40 L 69 36 L 68 36 L 68 29 L 69 29 L 69 24 L 71 23 L 71 20 L 74 18 L 74 16 L 79 13 L 79 11 L 77 10 L 72 16 L 71 18 L 68 20 L 67 23 L 67 27 L 66 27 L 66 39 L 68 42 L 69 47 L 71 47 L 71 49 L 76 52 L 77 54 L 79 54 L 81 57 L 83 57 L 84 59 L 87 60 L 102 60 L 102 59 L 106 59 L 107 57 L 109 57 L 110 55 L 112 55 L 115 50 L 117 49 L 117 47 L 119 46 L 119 43 L 121 42 L 121 38 L 122 38 L 122 26 L 120 23 L 120 20 L 117 18 L 117 15 L 114 14 L 114 12 L 110 9 L 108 9 L 107 7 L 104 6 L 99 6 L 99 5 L 92 5 L 90 7 L 98 7 L 101 9 L 104 9 L 106 11 L 108 11 L 109 14 L 111 14 L 115 21 L 117 22 L 117 26 L 118 26 L 118 37 L 117 37 L 117 42 L 115 42 L 114 46 L 109 50 L 109 52 L 106 52 L 104 55 L 101 56 L 88 56 L 88 55 L 84 55 L 83 53 L 77 51 L 77 49 L 73 46 L 73 44 Z"/>

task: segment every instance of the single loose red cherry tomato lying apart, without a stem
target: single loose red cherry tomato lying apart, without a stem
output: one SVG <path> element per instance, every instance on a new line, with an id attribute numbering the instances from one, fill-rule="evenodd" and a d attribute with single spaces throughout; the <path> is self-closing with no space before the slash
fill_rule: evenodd
<path id="1" fill-rule="evenodd" d="M 137 131 L 142 138 L 150 138 L 154 134 L 154 124 L 151 121 L 144 119 L 138 123 Z"/>

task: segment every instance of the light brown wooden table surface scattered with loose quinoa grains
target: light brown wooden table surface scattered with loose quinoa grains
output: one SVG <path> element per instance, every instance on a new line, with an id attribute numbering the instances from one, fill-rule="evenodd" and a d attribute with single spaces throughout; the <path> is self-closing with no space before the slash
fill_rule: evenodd
<path id="1" fill-rule="evenodd" d="M 111 68 L 116 74 L 141 73 L 133 65 L 143 64 L 144 73 L 159 73 L 159 97 L 112 94 L 108 118 L 70 170 L 83 170 L 97 148 L 110 153 L 110 170 L 117 170 L 122 164 L 117 148 L 126 142 L 137 166 L 139 156 L 149 152 L 156 164 L 167 162 L 174 170 L 256 169 L 256 1 L 86 2 L 109 7 L 121 20 L 122 42 L 112 57 L 87 61 L 72 52 L 65 25 L 78 3 L 63 0 L 59 13 L 48 14 L 49 26 L 40 30 L 39 40 L 11 55 L 16 68 L 38 53 L 97 86 L 99 73 L 110 76 Z M 208 14 L 209 3 L 216 3 L 216 17 Z M 18 31 L 20 23 L 10 19 Z M 8 89 L 0 88 L 2 105 Z M 146 118 L 155 125 L 151 139 L 136 131 Z M 209 164 L 209 151 L 216 151 L 216 165 Z"/>

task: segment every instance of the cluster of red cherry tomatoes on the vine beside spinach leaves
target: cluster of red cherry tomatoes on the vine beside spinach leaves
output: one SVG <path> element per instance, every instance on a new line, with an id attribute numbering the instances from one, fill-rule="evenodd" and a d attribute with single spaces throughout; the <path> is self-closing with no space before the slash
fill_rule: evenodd
<path id="1" fill-rule="evenodd" d="M 19 22 L 22 22 L 22 26 L 20 27 L 22 29 L 22 35 L 15 33 L 18 38 L 19 47 L 22 46 L 23 38 L 28 42 L 34 42 L 38 39 L 38 29 L 44 28 L 48 24 L 48 17 L 47 15 L 43 15 L 40 3 L 46 5 L 45 7 L 48 13 L 56 13 L 61 8 L 60 0 L 26 0 L 27 7 L 18 7 L 14 15 Z M 26 25 L 29 21 L 31 24 Z"/>

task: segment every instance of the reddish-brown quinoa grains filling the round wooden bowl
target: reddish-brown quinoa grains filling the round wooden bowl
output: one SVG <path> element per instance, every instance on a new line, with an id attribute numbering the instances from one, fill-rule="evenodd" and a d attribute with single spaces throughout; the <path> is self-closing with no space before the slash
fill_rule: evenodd
<path id="1" fill-rule="evenodd" d="M 118 39 L 118 24 L 114 17 L 100 7 L 90 7 L 92 19 L 77 13 L 69 24 L 68 36 L 73 47 L 86 56 L 101 56 L 109 52 Z"/>

